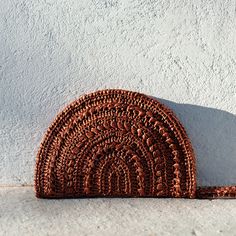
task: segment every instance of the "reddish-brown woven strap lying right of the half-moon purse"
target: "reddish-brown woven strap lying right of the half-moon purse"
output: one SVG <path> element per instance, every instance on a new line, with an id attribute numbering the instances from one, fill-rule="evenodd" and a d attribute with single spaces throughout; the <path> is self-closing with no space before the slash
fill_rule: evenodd
<path id="1" fill-rule="evenodd" d="M 198 187 L 197 198 L 236 198 L 236 186 Z"/>

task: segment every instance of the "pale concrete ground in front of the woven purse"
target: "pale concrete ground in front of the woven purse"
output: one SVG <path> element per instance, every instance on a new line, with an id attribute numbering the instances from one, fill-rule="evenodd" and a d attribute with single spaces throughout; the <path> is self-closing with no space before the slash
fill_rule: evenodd
<path id="1" fill-rule="evenodd" d="M 1 187 L 0 235 L 236 235 L 236 200 L 46 200 Z"/>

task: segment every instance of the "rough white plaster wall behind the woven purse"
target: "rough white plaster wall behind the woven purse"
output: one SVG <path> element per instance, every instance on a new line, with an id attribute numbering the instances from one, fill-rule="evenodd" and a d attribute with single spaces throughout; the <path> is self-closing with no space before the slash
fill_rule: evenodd
<path id="1" fill-rule="evenodd" d="M 199 184 L 236 183 L 235 1 L 0 3 L 0 185 L 32 184 L 55 115 L 103 88 L 161 99 L 192 140 Z"/>

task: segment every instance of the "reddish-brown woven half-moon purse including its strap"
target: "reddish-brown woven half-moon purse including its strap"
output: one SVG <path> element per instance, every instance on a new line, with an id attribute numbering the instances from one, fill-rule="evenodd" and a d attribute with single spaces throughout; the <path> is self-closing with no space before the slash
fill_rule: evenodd
<path id="1" fill-rule="evenodd" d="M 102 90 L 69 104 L 48 128 L 37 154 L 40 198 L 236 197 L 235 186 L 196 186 L 191 142 L 159 101 Z"/>

